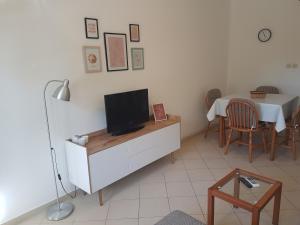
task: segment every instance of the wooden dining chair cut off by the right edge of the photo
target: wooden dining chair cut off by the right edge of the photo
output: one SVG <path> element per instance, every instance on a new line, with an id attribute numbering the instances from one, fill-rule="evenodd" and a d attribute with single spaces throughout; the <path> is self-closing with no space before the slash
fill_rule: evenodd
<path id="1" fill-rule="evenodd" d="M 300 128 L 300 107 L 293 113 L 292 118 L 286 123 L 285 140 L 279 145 L 292 151 L 294 160 L 297 159 L 297 133 Z"/>

